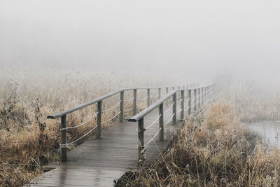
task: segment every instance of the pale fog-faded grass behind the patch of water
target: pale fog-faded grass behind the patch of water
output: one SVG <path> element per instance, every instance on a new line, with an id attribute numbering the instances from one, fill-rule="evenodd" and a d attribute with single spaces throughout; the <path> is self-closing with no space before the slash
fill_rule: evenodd
<path id="1" fill-rule="evenodd" d="M 266 88 L 251 82 L 217 85 L 217 102 L 230 102 L 241 121 L 280 120 L 278 88 Z"/>

